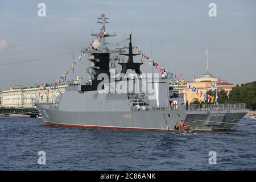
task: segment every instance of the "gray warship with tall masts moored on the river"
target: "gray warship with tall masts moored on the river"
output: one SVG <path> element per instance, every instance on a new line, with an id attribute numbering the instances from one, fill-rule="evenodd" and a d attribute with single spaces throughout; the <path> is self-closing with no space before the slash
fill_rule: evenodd
<path id="1" fill-rule="evenodd" d="M 88 53 L 86 80 L 67 86 L 54 103 L 36 104 L 45 125 L 172 131 L 183 120 L 192 131 L 229 130 L 247 113 L 245 104 L 186 105 L 183 93 L 174 90 L 167 77 L 142 73 L 142 60 L 134 60 L 139 54 L 133 52 L 131 34 L 129 47 L 110 49 L 106 38 L 116 34 L 106 31 L 104 14 L 98 19 L 100 33 L 92 32 L 96 41 L 81 49 Z M 120 85 L 123 92 L 116 89 Z"/>

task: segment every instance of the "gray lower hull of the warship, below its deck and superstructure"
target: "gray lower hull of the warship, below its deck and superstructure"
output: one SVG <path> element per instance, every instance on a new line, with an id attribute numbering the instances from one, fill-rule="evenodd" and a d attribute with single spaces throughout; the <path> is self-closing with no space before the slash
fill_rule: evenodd
<path id="1" fill-rule="evenodd" d="M 60 111 L 47 104 L 37 105 L 45 125 L 69 127 L 101 127 L 137 130 L 174 130 L 184 120 L 192 131 L 229 130 L 247 113 L 236 111 Z"/>

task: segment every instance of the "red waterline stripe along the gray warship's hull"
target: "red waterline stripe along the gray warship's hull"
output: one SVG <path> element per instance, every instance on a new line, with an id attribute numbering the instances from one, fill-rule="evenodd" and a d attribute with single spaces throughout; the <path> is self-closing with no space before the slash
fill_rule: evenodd
<path id="1" fill-rule="evenodd" d="M 72 124 L 64 124 L 64 123 L 53 123 L 44 121 L 44 125 L 46 126 L 68 126 L 68 127 L 98 127 L 105 129 L 132 129 L 132 130 L 166 130 L 166 129 L 151 129 L 151 128 L 143 128 L 143 127 L 119 127 L 119 126 L 97 126 L 97 125 L 72 125 Z"/>

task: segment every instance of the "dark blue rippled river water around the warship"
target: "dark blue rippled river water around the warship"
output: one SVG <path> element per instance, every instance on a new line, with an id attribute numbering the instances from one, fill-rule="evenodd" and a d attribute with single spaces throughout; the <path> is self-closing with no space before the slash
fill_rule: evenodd
<path id="1" fill-rule="evenodd" d="M 254 120 L 240 123 L 256 125 Z M 256 169 L 256 126 L 232 131 L 166 131 L 44 126 L 39 118 L 0 118 L 0 170 Z M 38 164 L 38 152 L 46 164 Z M 209 151 L 216 164 L 209 164 Z"/>

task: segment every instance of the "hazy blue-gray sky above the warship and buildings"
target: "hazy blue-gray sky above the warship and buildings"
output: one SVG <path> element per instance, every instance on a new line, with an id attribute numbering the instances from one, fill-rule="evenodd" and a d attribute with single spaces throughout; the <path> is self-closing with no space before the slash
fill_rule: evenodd
<path id="1" fill-rule="evenodd" d="M 46 17 L 38 16 L 38 4 L 46 4 Z M 217 16 L 210 17 L 209 3 Z M 209 72 L 233 83 L 256 80 L 256 1 L 148 1 L 94 0 L 49 1 L 0 0 L 0 89 L 10 85 L 55 82 L 79 56 L 81 47 L 94 39 L 97 17 L 109 17 L 108 38 L 138 47 L 164 68 L 185 80 L 205 73 L 208 48 Z M 120 45 L 119 45 L 120 46 Z M 68 54 L 70 53 L 70 54 Z M 51 59 L 44 57 L 63 55 Z M 26 60 L 42 59 L 21 64 Z M 137 56 L 135 60 L 140 60 Z M 9 65 L 5 65 L 9 64 Z M 82 76 L 82 64 L 68 80 Z M 148 61 L 142 71 L 151 72 Z"/>

